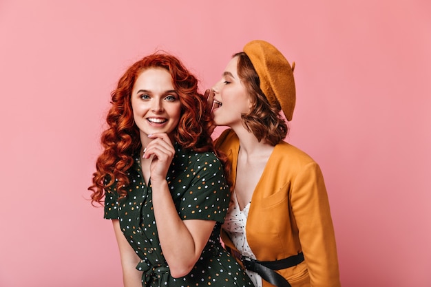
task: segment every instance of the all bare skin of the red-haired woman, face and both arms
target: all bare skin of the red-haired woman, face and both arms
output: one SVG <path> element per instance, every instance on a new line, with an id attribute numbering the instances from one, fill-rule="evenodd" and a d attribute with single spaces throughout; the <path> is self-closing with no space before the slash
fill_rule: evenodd
<path id="1" fill-rule="evenodd" d="M 187 275 L 198 261 L 213 231 L 215 221 L 181 220 L 166 181 L 175 155 L 174 131 L 181 116 L 181 103 L 167 70 L 149 68 L 136 79 L 132 89 L 134 121 L 140 131 L 141 166 L 145 183 L 151 178 L 154 215 L 163 255 L 172 277 Z M 113 220 L 120 248 L 125 287 L 141 285 L 136 270 L 139 257 L 125 240 L 118 220 Z M 181 248 L 178 248 L 181 246 Z"/>

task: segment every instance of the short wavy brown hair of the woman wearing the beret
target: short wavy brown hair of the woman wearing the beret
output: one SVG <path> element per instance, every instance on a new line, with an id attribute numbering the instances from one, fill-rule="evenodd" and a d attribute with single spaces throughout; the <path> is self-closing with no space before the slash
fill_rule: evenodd
<path id="1" fill-rule="evenodd" d="M 248 114 L 242 115 L 242 123 L 257 140 L 264 139 L 270 145 L 277 145 L 288 134 L 288 125 L 280 113 L 282 108 L 278 103 L 277 105 L 269 103 L 260 89 L 260 79 L 249 56 L 239 52 L 234 54 L 234 57 L 238 57 L 238 76 L 251 99 L 251 110 Z"/>

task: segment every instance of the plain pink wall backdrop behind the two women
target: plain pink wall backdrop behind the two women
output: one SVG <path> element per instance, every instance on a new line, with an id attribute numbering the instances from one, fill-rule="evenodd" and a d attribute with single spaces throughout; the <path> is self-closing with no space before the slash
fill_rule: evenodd
<path id="1" fill-rule="evenodd" d="M 0 286 L 121 286 L 86 199 L 109 93 L 160 48 L 202 90 L 253 39 L 296 62 L 343 286 L 431 286 L 431 2 L 0 1 Z M 220 132 L 220 130 L 218 130 Z"/>

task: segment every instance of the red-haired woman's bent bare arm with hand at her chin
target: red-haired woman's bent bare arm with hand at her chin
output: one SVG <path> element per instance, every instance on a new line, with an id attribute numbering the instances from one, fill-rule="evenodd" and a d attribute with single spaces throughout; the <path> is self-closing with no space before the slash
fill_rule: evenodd
<path id="1" fill-rule="evenodd" d="M 160 246 L 172 277 L 189 274 L 207 244 L 215 221 L 181 220 L 166 181 L 175 150 L 166 134 L 153 134 L 144 159 L 151 157 L 151 188 Z"/>

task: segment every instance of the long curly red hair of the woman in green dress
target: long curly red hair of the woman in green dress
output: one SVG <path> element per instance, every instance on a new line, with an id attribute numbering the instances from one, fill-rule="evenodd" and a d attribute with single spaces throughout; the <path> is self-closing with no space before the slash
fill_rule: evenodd
<path id="1" fill-rule="evenodd" d="M 151 67 L 162 67 L 171 74 L 180 97 L 181 117 L 174 131 L 176 142 L 183 149 L 213 151 L 222 161 L 226 178 L 229 178 L 227 157 L 215 150 L 209 134 L 213 120 L 207 107 L 207 98 L 198 92 L 198 79 L 175 56 L 159 51 L 129 67 L 111 94 L 112 105 L 106 118 L 108 128 L 101 135 L 104 150 L 96 160 L 93 184 L 88 188 L 92 191 L 92 204 L 101 203 L 105 190 L 109 188 L 116 189 L 120 198 L 127 195 L 127 171 L 134 163 L 132 155 L 139 153 L 141 148 L 139 129 L 133 118 L 132 89 L 136 78 Z"/>

